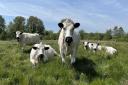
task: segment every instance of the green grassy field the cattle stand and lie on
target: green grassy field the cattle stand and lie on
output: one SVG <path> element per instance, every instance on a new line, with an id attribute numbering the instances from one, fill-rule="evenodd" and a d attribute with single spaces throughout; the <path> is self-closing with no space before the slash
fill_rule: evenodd
<path id="1" fill-rule="evenodd" d="M 57 41 L 46 41 L 57 52 Z M 70 65 L 55 56 L 32 68 L 30 46 L 22 52 L 15 41 L 0 41 L 0 85 L 128 85 L 128 43 L 101 42 L 118 50 L 109 56 L 85 51 L 79 46 L 77 61 Z"/>

